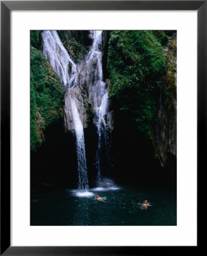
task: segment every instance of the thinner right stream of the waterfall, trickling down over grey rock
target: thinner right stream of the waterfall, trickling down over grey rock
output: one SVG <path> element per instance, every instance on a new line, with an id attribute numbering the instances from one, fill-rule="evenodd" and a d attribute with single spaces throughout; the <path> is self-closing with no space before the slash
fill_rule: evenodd
<path id="1" fill-rule="evenodd" d="M 102 31 L 90 31 L 90 38 L 93 39 L 92 48 L 89 51 L 86 65 L 88 65 L 88 73 L 93 72 L 93 80 L 90 81 L 89 101 L 92 102 L 94 109 L 94 123 L 97 126 L 98 147 L 96 152 L 96 167 L 97 167 L 97 183 L 101 181 L 101 147 L 104 144 L 106 148 L 107 161 L 110 165 L 108 155 L 107 125 L 106 114 L 108 106 L 109 89 L 106 83 L 103 82 L 102 70 Z M 94 65 L 96 64 L 96 65 Z"/>

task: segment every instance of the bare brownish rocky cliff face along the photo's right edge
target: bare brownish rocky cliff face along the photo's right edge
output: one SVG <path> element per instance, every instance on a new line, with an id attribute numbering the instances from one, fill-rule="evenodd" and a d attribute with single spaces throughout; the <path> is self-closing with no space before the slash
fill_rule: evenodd
<path id="1" fill-rule="evenodd" d="M 176 34 L 168 38 L 163 47 L 167 72 L 160 86 L 159 100 L 156 105 L 156 123 L 152 127 L 152 143 L 155 156 L 164 167 L 168 155 L 177 155 L 177 40 Z"/>

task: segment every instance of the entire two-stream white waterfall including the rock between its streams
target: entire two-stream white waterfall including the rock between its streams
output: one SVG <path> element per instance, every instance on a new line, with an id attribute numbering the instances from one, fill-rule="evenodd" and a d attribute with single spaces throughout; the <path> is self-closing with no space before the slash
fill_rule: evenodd
<path id="1" fill-rule="evenodd" d="M 106 115 L 108 111 L 109 86 L 103 81 L 102 31 L 89 31 L 92 46 L 88 54 L 75 64 L 61 43 L 57 31 L 43 31 L 43 54 L 60 77 L 65 89 L 65 130 L 73 130 L 76 136 L 78 188 L 88 189 L 85 157 L 84 127 L 86 118 L 84 97 L 93 106 L 94 124 L 97 127 L 96 150 L 97 184 L 103 181 L 104 167 L 109 169 L 109 137 Z M 85 86 L 85 87 L 83 87 Z M 104 159 L 104 160 L 103 160 Z"/>

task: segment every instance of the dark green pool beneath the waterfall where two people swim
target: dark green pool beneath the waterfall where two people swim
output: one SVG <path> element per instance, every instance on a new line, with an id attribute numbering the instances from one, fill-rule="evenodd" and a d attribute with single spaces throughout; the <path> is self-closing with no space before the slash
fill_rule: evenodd
<path id="1" fill-rule="evenodd" d="M 97 194 L 107 203 L 94 200 Z M 144 200 L 151 207 L 141 209 Z M 31 225 L 176 225 L 176 192 L 113 187 L 88 195 L 71 189 L 43 193 L 31 200 Z"/>

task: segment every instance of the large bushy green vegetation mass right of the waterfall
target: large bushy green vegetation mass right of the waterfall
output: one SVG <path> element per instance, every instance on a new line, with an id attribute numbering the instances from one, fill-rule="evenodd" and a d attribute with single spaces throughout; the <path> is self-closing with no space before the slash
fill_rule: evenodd
<path id="1" fill-rule="evenodd" d="M 111 31 L 107 70 L 114 109 L 151 138 L 156 92 L 166 72 L 158 39 L 152 31 Z"/>

